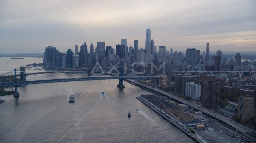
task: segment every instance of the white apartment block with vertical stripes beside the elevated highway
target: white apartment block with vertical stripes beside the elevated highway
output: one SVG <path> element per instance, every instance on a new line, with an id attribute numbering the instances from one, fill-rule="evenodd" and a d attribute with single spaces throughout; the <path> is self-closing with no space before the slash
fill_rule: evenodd
<path id="1" fill-rule="evenodd" d="M 186 83 L 185 96 L 194 100 L 200 100 L 201 85 L 195 84 L 195 82 Z"/>

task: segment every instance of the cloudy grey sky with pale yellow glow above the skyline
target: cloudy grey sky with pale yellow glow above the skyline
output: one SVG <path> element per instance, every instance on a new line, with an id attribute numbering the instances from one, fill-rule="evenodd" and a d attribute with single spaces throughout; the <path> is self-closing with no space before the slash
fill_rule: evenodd
<path id="1" fill-rule="evenodd" d="M 99 41 L 116 49 L 121 39 L 127 46 L 137 39 L 144 49 L 148 22 L 157 49 L 202 53 L 209 42 L 211 51 L 256 51 L 255 6 L 256 0 L 1 0 L 0 53 L 43 53 L 51 45 L 75 51 L 84 42 L 89 50 Z"/>

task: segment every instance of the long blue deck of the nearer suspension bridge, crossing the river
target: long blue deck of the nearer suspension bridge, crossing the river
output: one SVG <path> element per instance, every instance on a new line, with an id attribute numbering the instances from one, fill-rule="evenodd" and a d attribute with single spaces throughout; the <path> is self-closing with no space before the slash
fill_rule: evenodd
<path id="1" fill-rule="evenodd" d="M 111 77 L 84 77 L 84 78 L 69 78 L 69 79 L 52 79 L 52 80 L 34 80 L 34 81 L 23 81 L 13 83 L 1 83 L 0 87 L 3 86 L 20 86 L 27 84 L 40 84 L 40 83 L 58 83 L 58 82 L 69 82 L 69 81 L 85 81 L 85 80 L 112 80 L 112 79 L 136 79 L 136 78 L 158 78 L 159 76 L 111 76 Z"/>

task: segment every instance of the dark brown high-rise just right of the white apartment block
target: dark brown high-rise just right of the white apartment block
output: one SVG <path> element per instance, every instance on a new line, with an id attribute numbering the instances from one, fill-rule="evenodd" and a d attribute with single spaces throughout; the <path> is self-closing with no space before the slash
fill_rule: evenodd
<path id="1" fill-rule="evenodd" d="M 206 108 L 219 106 L 219 86 L 218 82 L 203 82 L 202 105 Z"/>

